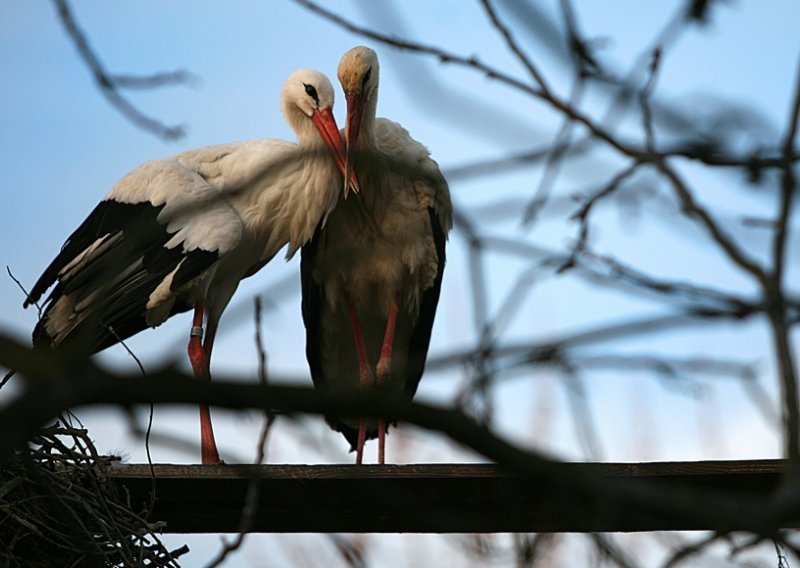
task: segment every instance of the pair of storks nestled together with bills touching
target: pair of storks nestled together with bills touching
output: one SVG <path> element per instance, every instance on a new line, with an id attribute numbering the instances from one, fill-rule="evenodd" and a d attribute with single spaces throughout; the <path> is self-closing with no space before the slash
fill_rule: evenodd
<path id="1" fill-rule="evenodd" d="M 447 183 L 400 125 L 376 118 L 375 52 L 355 47 L 338 70 L 342 141 L 321 73 L 281 91 L 298 144 L 254 140 L 189 150 L 123 177 L 67 239 L 25 302 L 47 297 L 34 343 L 94 353 L 194 311 L 189 359 L 209 380 L 219 319 L 239 282 L 285 245 L 301 253 L 306 356 L 317 388 L 417 389 L 452 224 Z M 350 190 L 358 195 L 348 199 Z M 329 417 L 361 463 L 386 423 Z M 203 463 L 219 463 L 200 408 Z"/>

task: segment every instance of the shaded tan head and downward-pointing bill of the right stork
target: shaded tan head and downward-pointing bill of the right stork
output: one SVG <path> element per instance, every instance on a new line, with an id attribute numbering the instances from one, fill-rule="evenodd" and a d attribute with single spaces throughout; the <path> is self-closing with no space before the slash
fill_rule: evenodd
<path id="1" fill-rule="evenodd" d="M 365 110 L 374 115 L 378 102 L 378 55 L 368 47 L 359 45 L 347 51 L 339 61 L 339 82 L 347 101 L 345 123 L 346 158 L 345 176 L 349 176 L 353 153 L 361 132 Z M 370 118 L 374 118 L 371 116 Z"/>

